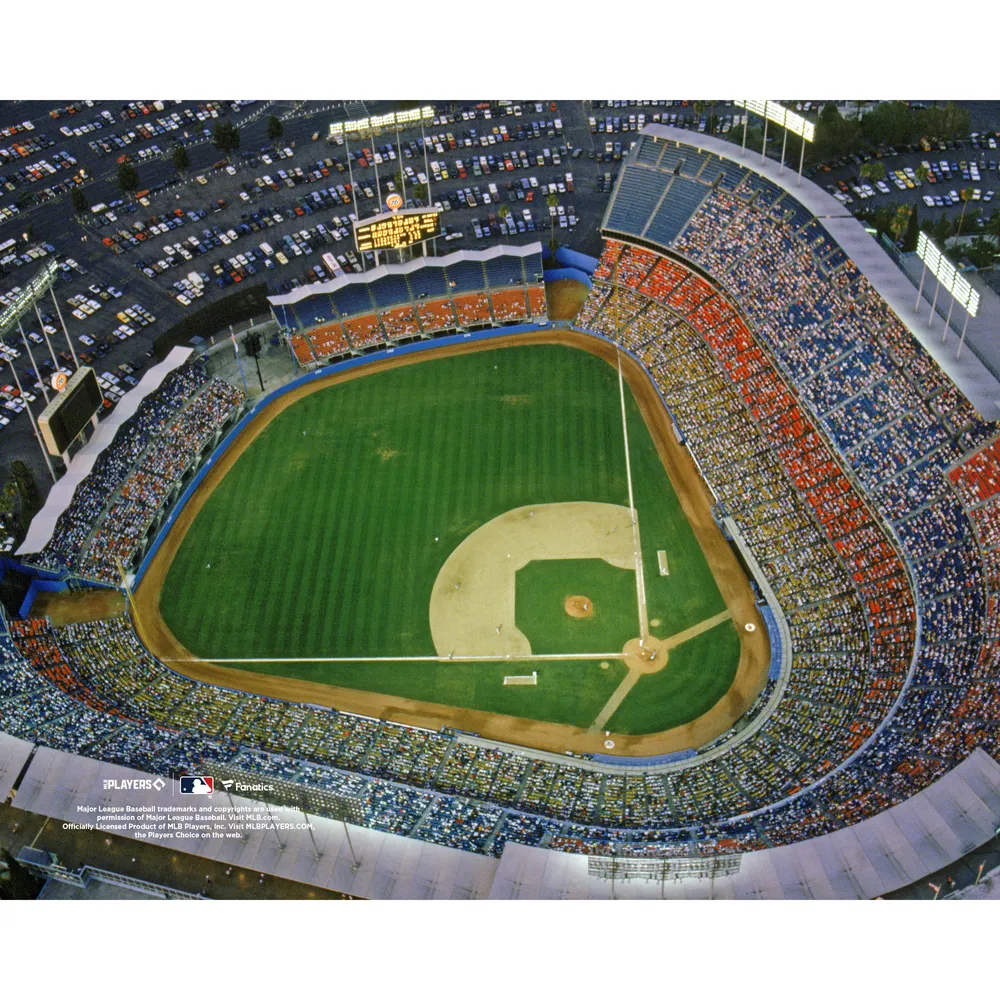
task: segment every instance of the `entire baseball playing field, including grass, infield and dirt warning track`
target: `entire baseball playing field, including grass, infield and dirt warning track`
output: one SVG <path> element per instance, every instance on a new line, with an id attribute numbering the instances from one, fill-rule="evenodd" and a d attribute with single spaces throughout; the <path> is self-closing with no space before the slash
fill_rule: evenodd
<path id="1" fill-rule="evenodd" d="M 766 673 L 749 587 L 635 366 L 561 339 L 283 397 L 154 558 L 144 639 L 192 676 L 539 746 L 724 728 Z"/>

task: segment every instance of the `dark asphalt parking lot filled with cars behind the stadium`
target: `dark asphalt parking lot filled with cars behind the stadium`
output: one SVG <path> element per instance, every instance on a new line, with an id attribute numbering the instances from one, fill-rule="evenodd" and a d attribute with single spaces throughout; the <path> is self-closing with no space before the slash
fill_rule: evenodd
<path id="1" fill-rule="evenodd" d="M 554 236 L 598 254 L 600 219 L 638 129 L 663 120 L 703 130 L 709 107 L 695 111 L 688 101 L 440 102 L 423 133 L 416 127 L 353 136 L 348 144 L 328 139 L 331 122 L 394 106 L 211 100 L 0 104 L 0 149 L 7 151 L 0 154 L 0 160 L 6 157 L 0 163 L 0 302 L 55 257 L 59 311 L 80 360 L 107 373 L 111 408 L 149 365 L 154 339 L 206 304 L 247 284 L 266 282 L 270 291 L 280 292 L 374 266 L 372 255 L 364 259 L 354 250 L 351 217 L 375 214 L 393 189 L 408 204 L 429 200 L 442 209 L 443 234 L 428 247 L 431 253 L 495 242 L 547 243 Z M 711 107 L 720 132 L 738 127 L 731 104 Z M 276 140 L 268 138 L 271 115 L 283 125 Z M 239 149 L 228 160 L 212 142 L 220 121 L 240 130 Z M 187 150 L 190 161 L 183 173 L 173 162 L 177 146 Z M 890 175 L 887 193 L 873 190 L 871 199 L 852 190 L 861 182 L 860 163 L 834 165 L 814 179 L 851 198 L 854 210 L 917 201 L 923 217 L 932 211 L 923 195 L 943 198 L 970 186 L 981 188 L 988 210 L 988 192 L 1000 186 L 998 157 L 1000 151 L 986 148 L 898 150 L 883 159 Z M 135 197 L 123 195 L 118 184 L 126 158 L 138 172 Z M 940 169 L 942 159 L 949 163 L 950 178 Z M 47 166 L 39 167 L 43 160 Z M 892 171 L 915 173 L 922 160 L 938 166 L 936 183 L 893 185 Z M 962 161 L 968 169 L 973 160 L 979 182 L 961 176 Z M 89 202 L 80 218 L 71 207 L 75 186 Z M 957 214 L 961 207 L 942 204 L 933 211 Z M 387 262 L 384 255 L 380 262 Z M 54 367 L 69 369 L 72 360 L 50 299 L 41 314 L 41 323 L 33 313 L 23 321 L 31 357 L 19 337 L 8 337 L 2 348 L 25 390 L 36 397 Z M 0 382 L 7 386 L 11 379 Z M 0 409 L 4 456 L 23 458 L 44 493 L 51 480 L 23 405 L 16 393 L 2 386 L 0 393 L 6 393 Z M 41 403 L 39 398 L 36 413 Z"/>

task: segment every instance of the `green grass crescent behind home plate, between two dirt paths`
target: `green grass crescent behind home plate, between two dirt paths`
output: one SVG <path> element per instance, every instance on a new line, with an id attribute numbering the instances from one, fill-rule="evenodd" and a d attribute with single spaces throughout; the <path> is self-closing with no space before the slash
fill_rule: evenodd
<path id="1" fill-rule="evenodd" d="M 729 690 L 740 657 L 731 621 L 670 650 L 667 665 L 645 674 L 608 720 L 616 733 L 657 733 L 707 712 Z"/>

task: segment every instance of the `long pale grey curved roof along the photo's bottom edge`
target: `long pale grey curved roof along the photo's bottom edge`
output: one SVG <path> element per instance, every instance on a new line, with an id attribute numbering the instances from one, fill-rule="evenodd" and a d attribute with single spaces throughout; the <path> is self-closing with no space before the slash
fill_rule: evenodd
<path id="1" fill-rule="evenodd" d="M 0 738 L 0 775 L 18 773 L 30 746 L 23 740 Z M 153 775 L 38 747 L 21 780 L 17 806 L 100 828 L 97 814 L 89 810 L 122 805 L 176 807 L 190 801 L 178 794 L 177 781 L 167 781 L 161 790 L 114 790 L 114 782 L 137 778 L 152 779 Z M 213 800 L 223 807 L 230 803 L 229 795 L 218 791 Z M 268 808 L 240 795 L 233 795 L 231 801 L 236 807 Z M 272 824 L 303 819 L 298 810 L 269 808 L 266 815 Z M 635 899 L 864 899 L 926 878 L 990 840 L 1000 824 L 1000 764 L 976 749 L 898 806 L 812 840 L 724 856 L 730 867 L 738 863 L 738 871 L 711 879 L 661 881 L 628 876 L 612 883 L 591 874 L 591 859 L 582 854 L 508 841 L 498 861 L 354 825 L 348 842 L 341 822 L 314 814 L 309 814 L 308 821 L 313 824 L 313 837 L 307 830 L 283 830 L 279 839 L 265 820 L 261 825 L 268 828 L 250 830 L 245 840 L 178 835 L 169 845 L 199 857 L 370 899 L 609 899 L 612 894 Z M 44 849 L 44 838 L 37 846 Z M 609 860 L 615 859 L 605 857 L 598 863 L 606 865 Z M 625 864 L 624 859 L 616 860 Z M 631 860 L 648 866 L 656 859 Z"/>

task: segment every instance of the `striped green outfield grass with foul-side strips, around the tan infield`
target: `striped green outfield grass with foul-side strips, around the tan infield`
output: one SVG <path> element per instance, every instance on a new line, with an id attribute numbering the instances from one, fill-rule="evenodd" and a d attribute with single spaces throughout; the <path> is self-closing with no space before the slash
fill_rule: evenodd
<path id="1" fill-rule="evenodd" d="M 626 401 L 649 616 L 667 635 L 723 602 L 627 387 Z M 206 659 L 433 655 L 431 589 L 459 542 L 514 507 L 573 500 L 628 503 L 618 377 L 604 361 L 533 345 L 379 372 L 314 392 L 264 429 L 191 525 L 160 609 Z M 659 548 L 671 577 L 657 574 Z M 561 605 L 554 615 L 565 619 Z M 633 599 L 630 633 L 636 617 Z M 571 676 L 564 666 L 553 673 Z M 391 676 L 382 665 L 247 669 L 587 724 L 614 687 L 610 671 L 567 683 L 562 697 L 577 704 L 566 707 L 527 705 L 531 688 L 494 691 L 478 666 L 487 680 L 434 664 L 390 665 Z M 510 672 L 530 670 L 493 670 Z"/>

